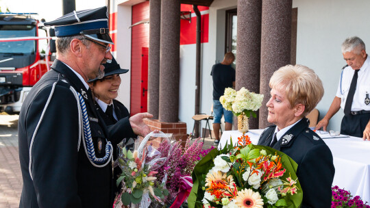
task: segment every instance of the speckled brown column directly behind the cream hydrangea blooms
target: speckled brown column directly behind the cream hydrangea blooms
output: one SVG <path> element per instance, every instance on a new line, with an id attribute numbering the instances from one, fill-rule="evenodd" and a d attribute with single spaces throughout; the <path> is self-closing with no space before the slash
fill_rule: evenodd
<path id="1" fill-rule="evenodd" d="M 236 90 L 260 92 L 261 15 L 262 1 L 238 0 Z M 249 119 L 249 128 L 258 129 L 258 115 Z"/>

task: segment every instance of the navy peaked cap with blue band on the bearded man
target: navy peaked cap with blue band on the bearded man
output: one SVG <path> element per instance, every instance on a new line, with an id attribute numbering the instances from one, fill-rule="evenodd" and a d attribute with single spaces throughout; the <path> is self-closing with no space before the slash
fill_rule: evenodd
<path id="1" fill-rule="evenodd" d="M 44 25 L 54 26 L 57 37 L 83 35 L 92 40 L 114 44 L 109 36 L 106 6 L 92 10 L 73 11 Z"/>

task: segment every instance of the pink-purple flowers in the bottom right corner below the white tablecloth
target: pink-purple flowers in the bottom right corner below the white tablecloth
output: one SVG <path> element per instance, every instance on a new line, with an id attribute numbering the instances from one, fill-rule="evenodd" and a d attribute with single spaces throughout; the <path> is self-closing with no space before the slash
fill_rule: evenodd
<path id="1" fill-rule="evenodd" d="M 332 187 L 332 208 L 336 207 L 362 207 L 370 208 L 369 205 L 366 205 L 360 196 L 352 196 L 350 192 L 340 189 L 337 185 Z"/>

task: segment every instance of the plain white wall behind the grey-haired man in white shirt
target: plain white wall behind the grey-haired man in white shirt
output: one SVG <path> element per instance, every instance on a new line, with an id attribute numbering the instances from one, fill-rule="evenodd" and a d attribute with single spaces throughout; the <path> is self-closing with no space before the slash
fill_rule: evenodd
<path id="1" fill-rule="evenodd" d="M 342 42 L 358 36 L 370 47 L 370 1 L 293 0 L 293 8 L 298 8 L 297 64 L 312 68 L 323 81 L 325 94 L 317 106 L 321 119 L 334 99 L 341 68 L 346 64 Z M 340 109 L 328 129 L 339 131 L 342 118 Z"/>

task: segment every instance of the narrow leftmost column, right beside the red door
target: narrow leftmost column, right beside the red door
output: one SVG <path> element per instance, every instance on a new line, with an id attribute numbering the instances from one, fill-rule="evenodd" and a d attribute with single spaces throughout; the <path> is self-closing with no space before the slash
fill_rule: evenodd
<path id="1" fill-rule="evenodd" d="M 160 0 L 149 1 L 148 112 L 159 116 L 160 83 Z"/>

